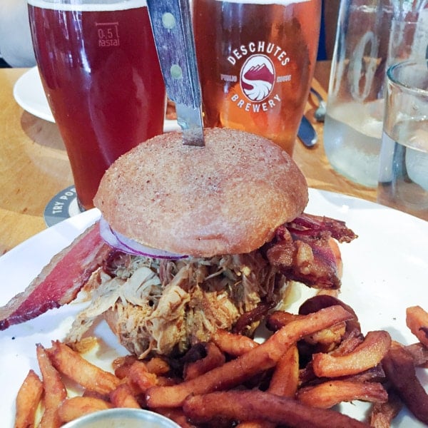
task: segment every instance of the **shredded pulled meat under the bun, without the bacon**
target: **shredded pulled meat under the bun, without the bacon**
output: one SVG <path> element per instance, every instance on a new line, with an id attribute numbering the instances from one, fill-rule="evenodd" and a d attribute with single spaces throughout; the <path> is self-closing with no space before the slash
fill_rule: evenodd
<path id="1" fill-rule="evenodd" d="M 259 250 L 182 260 L 116 252 L 91 287 L 91 303 L 73 322 L 68 341 L 80 340 L 103 315 L 121 344 L 144 357 L 205 342 L 262 301 L 280 309 L 286 278 Z M 248 326 L 248 334 L 256 324 Z"/>

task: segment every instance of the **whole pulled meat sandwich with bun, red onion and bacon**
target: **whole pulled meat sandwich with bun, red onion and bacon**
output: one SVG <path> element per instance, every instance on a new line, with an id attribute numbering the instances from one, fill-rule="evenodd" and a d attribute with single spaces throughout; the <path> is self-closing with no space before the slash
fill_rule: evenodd
<path id="1" fill-rule="evenodd" d="M 89 254 L 78 253 L 84 275 L 73 279 L 74 293 L 50 305 L 72 300 L 86 282 L 91 302 L 68 342 L 101 316 L 141 357 L 183 352 L 219 328 L 251 334 L 284 305 L 290 281 L 340 287 L 333 238 L 355 235 L 338 220 L 303 214 L 307 198 L 297 165 L 266 138 L 213 128 L 201 148 L 183 145 L 180 133 L 157 136 L 106 171 L 94 199 L 102 217 L 86 233 L 91 243 L 76 240 L 24 297 L 41 293 L 58 260 L 80 245 Z M 26 305 L 8 305 L 1 328 L 23 320 L 14 310 Z"/>

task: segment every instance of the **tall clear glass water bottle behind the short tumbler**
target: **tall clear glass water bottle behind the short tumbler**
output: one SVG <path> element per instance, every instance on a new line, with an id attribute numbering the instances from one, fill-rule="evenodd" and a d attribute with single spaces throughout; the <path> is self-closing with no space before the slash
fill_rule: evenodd
<path id="1" fill-rule="evenodd" d="M 426 0 L 341 0 L 332 58 L 324 148 L 337 172 L 377 186 L 389 64 L 425 58 Z"/>

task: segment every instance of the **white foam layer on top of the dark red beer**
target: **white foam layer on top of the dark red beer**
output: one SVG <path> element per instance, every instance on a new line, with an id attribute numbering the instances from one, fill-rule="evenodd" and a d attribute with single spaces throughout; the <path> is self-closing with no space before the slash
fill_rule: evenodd
<path id="1" fill-rule="evenodd" d="M 83 0 L 79 4 L 71 3 L 70 0 L 68 3 L 63 3 L 63 0 L 28 0 L 27 2 L 29 5 L 41 9 L 81 12 L 123 11 L 147 6 L 146 0 Z"/>

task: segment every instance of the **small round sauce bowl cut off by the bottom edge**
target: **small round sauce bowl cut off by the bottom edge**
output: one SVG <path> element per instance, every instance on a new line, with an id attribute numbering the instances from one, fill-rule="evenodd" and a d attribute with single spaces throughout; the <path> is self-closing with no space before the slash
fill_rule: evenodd
<path id="1" fill-rule="evenodd" d="M 171 419 L 143 409 L 115 408 L 86 414 L 62 428 L 180 428 Z"/>

